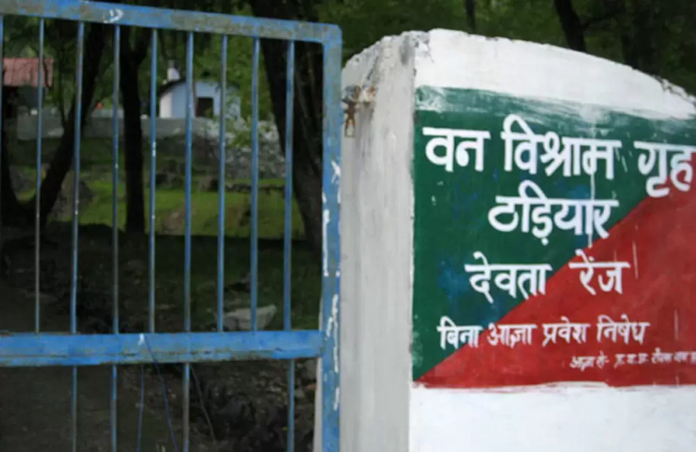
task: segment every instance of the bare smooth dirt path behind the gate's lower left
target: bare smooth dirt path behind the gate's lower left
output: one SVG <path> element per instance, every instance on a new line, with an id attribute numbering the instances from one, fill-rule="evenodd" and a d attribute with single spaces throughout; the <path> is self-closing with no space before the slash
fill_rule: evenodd
<path id="1" fill-rule="evenodd" d="M 47 298 L 43 304 L 49 301 Z M 33 318 L 33 297 L 0 285 L 0 330 L 31 331 Z M 69 325 L 67 316 L 45 317 L 42 323 L 44 330 L 55 332 L 64 332 Z M 150 372 L 145 372 L 148 395 L 145 397 L 143 435 L 138 449 L 141 374 L 136 366 L 120 366 L 118 369 L 118 450 L 182 450 L 180 410 L 175 403 L 171 404 L 175 447 L 169 439 L 161 382 L 155 373 Z M 71 450 L 71 374 L 70 368 L 0 368 L 0 452 Z M 81 367 L 77 374 L 77 450 L 110 451 L 111 366 Z M 159 394 L 159 397 L 153 394 Z M 217 449 L 207 437 L 192 430 L 191 451 Z"/>

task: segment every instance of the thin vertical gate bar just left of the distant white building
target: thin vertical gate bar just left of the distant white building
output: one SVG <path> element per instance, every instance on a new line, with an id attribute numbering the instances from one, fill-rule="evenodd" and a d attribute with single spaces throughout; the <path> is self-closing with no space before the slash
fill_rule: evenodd
<path id="1" fill-rule="evenodd" d="M 148 325 L 155 332 L 155 173 L 157 171 L 157 29 L 152 29 L 152 59 L 150 60 L 150 246 L 148 247 Z"/>

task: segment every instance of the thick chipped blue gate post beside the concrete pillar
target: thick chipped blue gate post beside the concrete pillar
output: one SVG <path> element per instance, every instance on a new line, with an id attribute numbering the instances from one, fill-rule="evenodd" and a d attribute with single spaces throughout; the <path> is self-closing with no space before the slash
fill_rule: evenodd
<path id="1" fill-rule="evenodd" d="M 340 435 L 340 128 L 342 122 L 341 31 L 326 30 L 324 40 L 324 168 L 322 202 L 324 274 L 322 277 L 322 451 L 338 452 Z"/>

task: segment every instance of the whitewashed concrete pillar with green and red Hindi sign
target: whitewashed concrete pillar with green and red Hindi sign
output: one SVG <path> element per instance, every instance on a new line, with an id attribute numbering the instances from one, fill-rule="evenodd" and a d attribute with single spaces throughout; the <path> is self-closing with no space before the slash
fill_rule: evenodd
<path id="1" fill-rule="evenodd" d="M 696 143 L 694 99 L 587 54 L 446 30 L 383 38 L 349 60 L 343 85 L 362 97 L 342 141 L 341 451 L 695 450 L 693 154 L 670 148 L 685 160 L 668 161 L 681 176 L 660 197 L 645 144 Z M 534 169 L 505 158 L 505 127 L 525 126 L 549 156 Z M 448 138 L 432 142 L 443 129 L 455 131 L 451 154 Z M 563 175 L 566 138 L 583 155 L 609 151 Z M 526 232 L 500 226 L 512 213 L 491 213 L 498 198 L 535 187 L 610 213 L 577 234 L 543 211 Z M 577 250 L 625 262 L 622 289 L 595 275 L 592 295 L 571 265 Z M 493 275 L 484 290 L 466 270 L 481 256 L 537 265 L 546 281 L 503 290 Z M 633 335 L 598 339 L 601 319 L 623 314 Z M 562 318 L 582 340 L 546 341 Z M 441 334 L 448 321 L 468 337 Z M 514 342 L 506 325 L 528 326 Z"/>

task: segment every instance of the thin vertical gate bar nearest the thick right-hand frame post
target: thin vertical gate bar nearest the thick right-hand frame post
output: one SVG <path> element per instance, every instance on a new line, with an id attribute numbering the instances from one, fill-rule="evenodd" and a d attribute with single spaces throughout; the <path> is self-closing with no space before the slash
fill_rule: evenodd
<path id="1" fill-rule="evenodd" d="M 292 112 L 294 107 L 295 42 L 287 42 L 285 88 L 285 234 L 283 237 L 283 328 L 292 328 Z M 287 452 L 295 449 L 295 360 L 287 368 Z"/>

